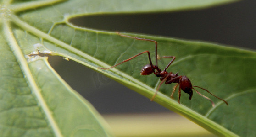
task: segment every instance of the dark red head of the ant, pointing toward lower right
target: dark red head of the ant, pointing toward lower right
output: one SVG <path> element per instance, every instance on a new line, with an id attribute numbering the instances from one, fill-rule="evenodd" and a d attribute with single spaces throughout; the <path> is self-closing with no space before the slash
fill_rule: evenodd
<path id="1" fill-rule="evenodd" d="M 189 100 L 191 100 L 193 91 L 192 91 L 192 84 L 188 77 L 182 76 L 181 77 L 181 84 L 180 84 L 181 90 L 183 90 L 185 93 L 189 94 Z"/>

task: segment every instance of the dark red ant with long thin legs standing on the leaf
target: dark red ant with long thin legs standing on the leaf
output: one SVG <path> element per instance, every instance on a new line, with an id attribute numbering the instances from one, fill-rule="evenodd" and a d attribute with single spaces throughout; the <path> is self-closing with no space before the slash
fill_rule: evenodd
<path id="1" fill-rule="evenodd" d="M 121 63 L 118 63 L 118 64 L 116 64 L 116 65 L 110 67 L 110 68 L 116 67 L 116 66 L 118 66 L 118 65 L 120 65 L 120 64 L 122 64 L 122 63 L 124 63 L 124 62 L 127 62 L 127 61 L 129 61 L 129 60 L 131 60 L 131 59 L 133 59 L 133 58 L 135 58 L 135 57 L 137 57 L 137 56 L 139 56 L 139 55 L 141 55 L 141 54 L 143 54 L 143 53 L 148 53 L 150 64 L 145 65 L 145 66 L 141 69 L 140 74 L 141 74 L 141 75 L 149 75 L 149 74 L 154 73 L 154 74 L 156 75 L 156 77 L 160 77 L 160 80 L 161 80 L 161 83 L 160 83 L 159 86 L 157 87 L 156 93 L 155 93 L 155 94 L 153 95 L 153 97 L 151 98 L 151 101 L 153 101 L 153 100 L 155 99 L 156 94 L 157 94 L 157 92 L 158 92 L 158 90 L 159 90 L 159 87 L 160 87 L 164 82 L 165 82 L 165 84 L 177 83 L 177 84 L 173 87 L 173 92 L 172 92 L 172 94 L 171 94 L 171 98 L 173 98 L 173 93 L 175 92 L 176 88 L 177 88 L 178 85 L 179 85 L 179 87 L 178 87 L 178 103 L 179 103 L 180 96 L 181 96 L 181 91 L 180 91 L 180 89 L 183 90 L 185 93 L 189 94 L 189 100 L 191 100 L 191 98 L 192 98 L 192 95 L 193 95 L 192 89 L 195 90 L 194 87 L 200 88 L 200 89 L 202 89 L 202 90 L 206 90 L 206 89 L 201 88 L 201 87 L 199 87 L 199 86 L 192 86 L 192 84 L 191 84 L 189 78 L 186 77 L 186 76 L 178 75 L 178 73 L 174 74 L 173 72 L 168 73 L 168 72 L 166 71 L 166 69 L 173 63 L 174 59 L 176 58 L 175 56 L 163 56 L 163 57 L 161 57 L 161 58 L 173 58 L 173 59 L 170 61 L 170 63 L 168 63 L 168 65 L 164 68 L 164 70 L 161 71 L 161 69 L 158 68 L 158 66 L 157 66 L 157 59 L 159 59 L 159 58 L 157 58 L 157 42 L 156 42 L 156 41 L 151 40 L 151 39 L 145 39 L 145 38 L 139 38 L 139 37 L 132 37 L 132 36 L 128 36 L 128 35 L 123 35 L 123 34 L 120 34 L 119 32 L 116 32 L 116 33 L 117 33 L 118 35 L 122 36 L 122 37 L 129 37 L 129 38 L 134 38 L 134 39 L 136 39 L 136 40 L 155 42 L 156 65 L 153 65 L 153 64 L 152 64 L 152 61 L 151 61 L 151 58 L 150 58 L 150 52 L 149 52 L 149 51 L 144 51 L 144 52 L 142 52 L 142 53 L 139 53 L 139 54 L 137 54 L 137 55 L 135 55 L 135 56 L 133 56 L 133 57 L 131 57 L 131 58 L 128 58 L 128 59 L 122 61 Z M 106 70 L 106 69 L 110 69 L 110 68 L 100 68 L 100 69 L 105 69 L 105 70 Z M 156 71 L 155 71 L 155 70 L 156 70 Z M 197 90 L 195 90 L 195 91 L 196 91 L 196 93 L 198 93 L 198 94 L 201 95 L 202 97 L 206 98 L 207 100 L 210 100 L 212 107 L 214 107 L 214 103 L 213 103 L 213 101 L 212 101 L 210 98 L 206 97 L 205 95 L 202 95 L 202 94 L 201 94 L 200 92 L 198 92 Z M 208 90 L 206 90 L 206 91 L 207 91 L 208 93 L 210 93 L 211 95 L 213 95 L 210 91 L 208 91 Z M 223 99 L 217 97 L 216 95 L 213 95 L 213 96 L 216 97 L 216 98 L 218 98 L 218 99 L 220 99 L 220 100 L 223 100 Z M 227 102 L 227 101 L 225 101 L 225 100 L 223 100 L 223 101 L 228 105 L 228 102 Z"/>

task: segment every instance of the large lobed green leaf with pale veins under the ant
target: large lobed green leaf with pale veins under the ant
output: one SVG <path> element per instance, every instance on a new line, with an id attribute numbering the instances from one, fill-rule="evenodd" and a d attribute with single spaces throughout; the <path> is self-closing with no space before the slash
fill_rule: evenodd
<path id="1" fill-rule="evenodd" d="M 111 136 L 94 108 L 72 90 L 38 53 L 61 55 L 95 69 L 151 98 L 159 84 L 154 75 L 140 76 L 146 55 L 108 68 L 154 43 L 73 26 L 72 17 L 92 14 L 160 12 L 206 8 L 237 0 L 2 0 L 0 5 L 0 134 L 20 136 Z M 134 36 L 134 34 L 128 34 Z M 222 136 L 256 135 L 256 53 L 206 42 L 136 35 L 158 42 L 160 56 L 176 56 L 168 71 L 186 75 L 216 107 L 194 94 L 182 93 L 181 104 L 168 97 L 173 85 L 162 85 L 155 101 Z M 39 54 L 39 55 L 38 55 Z M 159 60 L 165 68 L 170 59 Z M 250 120 L 249 120 L 250 119 Z M 231 131 L 231 132 L 230 132 Z M 234 133 L 233 133 L 234 132 Z"/>

